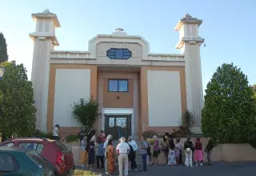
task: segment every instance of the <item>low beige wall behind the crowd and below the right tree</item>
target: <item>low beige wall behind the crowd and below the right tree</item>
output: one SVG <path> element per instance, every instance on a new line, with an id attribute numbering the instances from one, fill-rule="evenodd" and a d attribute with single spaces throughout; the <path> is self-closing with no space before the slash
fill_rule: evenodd
<path id="1" fill-rule="evenodd" d="M 150 139 L 148 139 L 150 140 Z M 195 138 L 192 138 L 193 142 Z M 162 138 L 159 139 L 160 143 Z M 138 147 L 141 146 L 141 141 L 136 141 Z M 181 138 L 181 142 L 186 142 L 186 138 Z M 203 149 L 207 145 L 207 139 L 201 138 Z M 79 142 L 68 143 L 67 146 L 72 150 L 74 154 L 75 165 L 78 166 L 81 164 L 81 147 Z M 151 152 L 153 154 L 153 146 L 151 146 Z M 185 161 L 185 151 L 182 150 L 182 159 Z M 137 162 L 141 164 L 141 156 L 137 154 Z M 204 161 L 207 161 L 207 154 L 204 153 Z M 212 152 L 212 161 L 213 162 L 254 162 L 256 161 L 256 149 L 254 149 L 250 144 L 219 144 L 216 146 Z M 161 152 L 158 155 L 158 164 L 166 164 L 166 155 Z"/>

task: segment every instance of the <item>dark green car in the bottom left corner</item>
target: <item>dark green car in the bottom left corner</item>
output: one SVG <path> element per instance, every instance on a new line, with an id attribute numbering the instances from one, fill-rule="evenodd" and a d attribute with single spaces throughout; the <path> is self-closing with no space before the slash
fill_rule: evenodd
<path id="1" fill-rule="evenodd" d="M 0 175 L 54 176 L 54 166 L 34 150 L 0 147 Z"/>

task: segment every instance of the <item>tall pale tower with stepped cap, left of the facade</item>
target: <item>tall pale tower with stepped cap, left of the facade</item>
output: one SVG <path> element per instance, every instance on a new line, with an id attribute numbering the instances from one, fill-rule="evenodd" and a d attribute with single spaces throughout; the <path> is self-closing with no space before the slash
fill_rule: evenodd
<path id="1" fill-rule="evenodd" d="M 34 105 L 37 108 L 36 126 L 46 132 L 50 51 L 54 50 L 54 46 L 58 46 L 55 28 L 60 27 L 60 23 L 57 15 L 49 10 L 31 16 L 36 22 L 35 32 L 30 34 L 34 41 L 31 82 L 34 88 Z"/>

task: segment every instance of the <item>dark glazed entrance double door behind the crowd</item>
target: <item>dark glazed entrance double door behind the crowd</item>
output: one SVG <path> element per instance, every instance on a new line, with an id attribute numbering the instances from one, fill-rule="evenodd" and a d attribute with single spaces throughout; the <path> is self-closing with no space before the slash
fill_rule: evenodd
<path id="1" fill-rule="evenodd" d="M 105 115 L 106 135 L 111 134 L 114 140 L 131 134 L 130 115 Z"/>

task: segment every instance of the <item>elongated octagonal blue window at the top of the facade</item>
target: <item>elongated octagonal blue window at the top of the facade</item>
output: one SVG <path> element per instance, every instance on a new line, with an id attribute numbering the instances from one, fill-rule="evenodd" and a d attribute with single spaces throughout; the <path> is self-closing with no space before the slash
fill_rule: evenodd
<path id="1" fill-rule="evenodd" d="M 111 48 L 106 51 L 106 56 L 111 59 L 128 59 L 131 57 L 131 51 L 128 49 Z"/>

